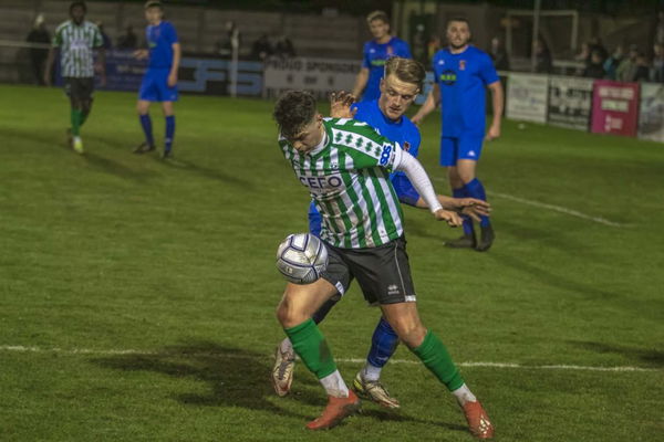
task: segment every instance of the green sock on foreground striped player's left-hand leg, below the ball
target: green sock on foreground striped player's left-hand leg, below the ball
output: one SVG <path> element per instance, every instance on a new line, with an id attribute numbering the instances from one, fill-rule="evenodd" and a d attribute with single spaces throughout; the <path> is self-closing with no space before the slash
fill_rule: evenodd
<path id="1" fill-rule="evenodd" d="M 328 347 L 328 341 L 313 319 L 307 319 L 300 325 L 283 330 L 290 338 L 300 359 L 318 379 L 336 371 L 336 365 L 332 358 L 330 347 Z"/>

